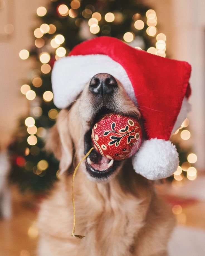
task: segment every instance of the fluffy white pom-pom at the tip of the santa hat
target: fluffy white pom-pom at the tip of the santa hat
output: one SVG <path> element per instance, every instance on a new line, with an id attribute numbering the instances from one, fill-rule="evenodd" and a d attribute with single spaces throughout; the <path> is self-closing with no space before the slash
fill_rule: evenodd
<path id="1" fill-rule="evenodd" d="M 158 180 L 172 175 L 179 165 L 179 155 L 175 145 L 169 140 L 152 138 L 145 140 L 132 157 L 136 173 L 149 180 Z"/>

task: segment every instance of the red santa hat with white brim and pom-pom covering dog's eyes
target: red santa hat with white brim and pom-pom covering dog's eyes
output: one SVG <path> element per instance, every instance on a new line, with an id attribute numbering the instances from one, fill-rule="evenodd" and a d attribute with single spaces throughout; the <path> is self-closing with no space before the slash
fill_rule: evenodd
<path id="1" fill-rule="evenodd" d="M 141 112 L 147 140 L 132 157 L 135 171 L 150 180 L 172 175 L 179 156 L 169 138 L 189 111 L 191 66 L 135 49 L 113 37 L 96 37 L 55 62 L 54 104 L 68 107 L 98 73 L 118 79 Z"/>

